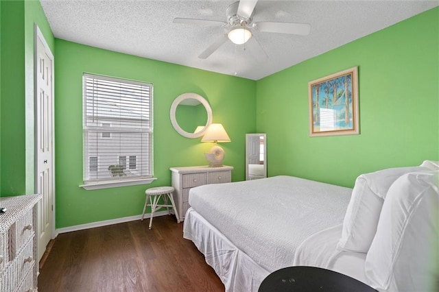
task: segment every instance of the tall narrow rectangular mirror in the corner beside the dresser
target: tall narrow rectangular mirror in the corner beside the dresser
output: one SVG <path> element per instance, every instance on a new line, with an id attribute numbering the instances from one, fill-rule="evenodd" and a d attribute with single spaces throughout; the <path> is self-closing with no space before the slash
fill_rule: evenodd
<path id="1" fill-rule="evenodd" d="M 246 180 L 267 177 L 266 149 L 266 134 L 246 134 Z"/>

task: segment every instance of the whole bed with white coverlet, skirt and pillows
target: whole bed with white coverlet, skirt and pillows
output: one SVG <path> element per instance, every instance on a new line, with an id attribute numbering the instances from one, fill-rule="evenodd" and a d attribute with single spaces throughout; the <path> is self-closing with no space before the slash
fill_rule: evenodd
<path id="1" fill-rule="evenodd" d="M 360 175 L 354 188 L 279 175 L 192 188 L 189 193 L 191 208 L 185 216 L 183 236 L 193 241 L 204 254 L 206 263 L 215 269 L 226 291 L 257 291 L 262 280 L 272 271 L 293 265 L 339 271 L 370 284 L 379 291 L 404 291 L 401 289 L 401 278 L 407 278 L 407 273 L 416 273 L 413 270 L 420 269 L 423 276 L 414 277 L 411 283 L 403 284 L 410 289 L 420 287 L 422 282 L 423 291 L 434 291 L 437 287 L 431 286 L 434 285 L 431 284 L 431 279 L 438 277 L 438 267 L 434 260 L 430 260 L 432 264 L 428 267 L 424 263 L 427 258 L 439 259 L 437 252 L 434 252 L 439 244 L 434 241 L 435 236 L 431 236 L 431 232 L 438 234 L 438 226 L 418 228 L 416 222 L 409 228 L 402 226 L 405 230 L 414 228 L 411 233 L 415 237 L 432 238 L 430 241 L 413 243 L 412 237 L 388 238 L 388 234 L 401 234 L 387 230 L 394 219 L 388 219 L 390 223 L 387 225 L 385 222 L 378 222 L 381 211 L 385 212 L 385 208 L 394 208 L 393 205 L 400 203 L 393 201 L 401 193 L 401 187 L 394 187 L 393 193 L 396 195 L 387 200 L 392 206 L 385 206 L 384 197 L 390 186 L 404 174 L 416 171 L 425 171 L 426 180 L 429 180 L 429 199 L 421 202 L 425 206 L 438 206 L 438 210 L 438 171 L 435 173 L 435 170 L 426 167 L 391 169 L 388 172 Z M 433 172 L 433 178 L 429 172 Z M 411 184 L 412 177 L 409 178 L 399 182 L 399 185 L 407 184 L 407 180 Z M 359 208 L 361 204 L 372 207 Z M 416 211 L 418 215 L 423 213 L 425 210 Z M 427 213 L 430 216 L 428 221 L 439 219 L 437 212 Z M 364 228 L 365 217 L 370 221 L 368 224 L 373 226 L 369 228 L 372 231 Z M 383 235 L 377 236 L 379 234 Z M 372 238 L 368 239 L 368 236 Z M 391 236 L 398 237 L 394 234 Z M 374 240 L 375 237 L 378 239 Z M 356 240 L 361 242 L 355 242 Z M 377 244 L 374 245 L 375 241 Z M 427 245 L 423 251 L 421 249 L 420 252 L 415 252 L 420 264 L 415 263 L 414 269 L 399 269 L 399 265 L 387 265 L 385 262 L 388 258 L 382 253 L 387 248 L 390 249 L 390 254 L 395 254 L 392 249 L 396 247 L 388 244 L 389 246 L 382 249 L 381 245 L 383 242 L 396 241 L 407 241 L 405 249 L 413 244 L 418 244 L 418 247 Z M 390 256 L 392 263 L 395 260 L 397 264 L 407 265 L 404 256 Z M 374 271 L 390 276 L 385 279 L 379 278 L 380 276 L 374 278 Z"/>

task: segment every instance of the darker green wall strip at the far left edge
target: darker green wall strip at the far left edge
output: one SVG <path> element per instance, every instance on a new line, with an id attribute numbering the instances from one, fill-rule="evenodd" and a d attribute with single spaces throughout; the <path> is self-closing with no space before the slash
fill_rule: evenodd
<path id="1" fill-rule="evenodd" d="M 25 189 L 24 1 L 1 1 L 1 195 Z"/>

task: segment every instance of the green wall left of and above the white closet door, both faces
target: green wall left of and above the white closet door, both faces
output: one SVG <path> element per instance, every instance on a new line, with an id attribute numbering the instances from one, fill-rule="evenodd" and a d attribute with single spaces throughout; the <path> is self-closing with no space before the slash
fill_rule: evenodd
<path id="1" fill-rule="evenodd" d="M 34 193 L 34 24 L 54 36 L 39 1 L 1 1 L 1 196 Z"/>

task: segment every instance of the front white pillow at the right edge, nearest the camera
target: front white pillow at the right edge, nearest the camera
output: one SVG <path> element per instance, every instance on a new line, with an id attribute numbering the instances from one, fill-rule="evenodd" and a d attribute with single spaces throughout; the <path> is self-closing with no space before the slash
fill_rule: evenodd
<path id="1" fill-rule="evenodd" d="M 364 264 L 375 289 L 438 291 L 438 182 L 439 171 L 416 172 L 390 187 Z"/>

